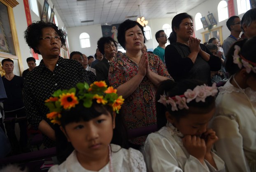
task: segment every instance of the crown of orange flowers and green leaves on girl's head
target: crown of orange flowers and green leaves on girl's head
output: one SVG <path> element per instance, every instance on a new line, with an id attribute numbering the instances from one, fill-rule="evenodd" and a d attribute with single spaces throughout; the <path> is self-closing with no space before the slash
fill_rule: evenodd
<path id="1" fill-rule="evenodd" d="M 95 81 L 90 86 L 87 83 L 78 83 L 76 88 L 55 91 L 52 97 L 44 101 L 50 110 L 47 118 L 51 120 L 51 123 L 61 125 L 63 110 L 75 107 L 80 101 L 83 102 L 84 107 L 89 108 L 93 100 L 96 100 L 98 104 L 111 106 L 116 113 L 119 113 L 124 101 L 121 95 L 117 95 L 116 89 L 112 86 L 107 87 L 105 81 Z"/>

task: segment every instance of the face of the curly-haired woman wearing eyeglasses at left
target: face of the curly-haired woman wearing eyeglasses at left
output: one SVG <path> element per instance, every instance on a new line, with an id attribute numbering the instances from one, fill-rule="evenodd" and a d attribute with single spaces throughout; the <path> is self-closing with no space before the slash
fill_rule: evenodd
<path id="1" fill-rule="evenodd" d="M 54 28 L 42 28 L 41 37 L 54 36 L 58 36 L 58 33 Z M 60 54 L 61 40 L 55 40 L 54 38 L 51 38 L 51 40 L 39 40 L 37 49 L 40 51 L 43 58 L 56 58 L 56 56 L 58 57 Z"/>

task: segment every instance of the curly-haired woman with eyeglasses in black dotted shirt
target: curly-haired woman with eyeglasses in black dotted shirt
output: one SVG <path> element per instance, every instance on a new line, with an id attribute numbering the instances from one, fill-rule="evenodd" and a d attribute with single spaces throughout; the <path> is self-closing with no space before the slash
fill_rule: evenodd
<path id="1" fill-rule="evenodd" d="M 35 53 L 42 55 L 40 65 L 28 72 L 24 81 L 27 118 L 35 130 L 43 133 L 44 146 L 49 148 L 55 146 L 54 141 L 58 136 L 46 118 L 49 109 L 44 105 L 44 100 L 58 89 L 68 89 L 78 82 L 89 80 L 77 60 L 59 56 L 61 47 L 65 45 L 65 35 L 54 23 L 32 23 L 26 29 L 24 38 Z"/>

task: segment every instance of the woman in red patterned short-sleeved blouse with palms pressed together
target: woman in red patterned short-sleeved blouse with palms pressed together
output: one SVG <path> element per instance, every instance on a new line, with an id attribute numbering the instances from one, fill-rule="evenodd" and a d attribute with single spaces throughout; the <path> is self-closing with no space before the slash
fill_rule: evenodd
<path id="1" fill-rule="evenodd" d="M 126 53 L 114 60 L 109 68 L 109 84 L 125 98 L 122 114 L 128 129 L 156 124 L 155 93 L 161 81 L 172 79 L 158 56 L 142 53 L 145 43 L 143 27 L 126 20 L 118 28 L 117 39 Z M 130 140 L 134 148 L 146 136 Z"/>

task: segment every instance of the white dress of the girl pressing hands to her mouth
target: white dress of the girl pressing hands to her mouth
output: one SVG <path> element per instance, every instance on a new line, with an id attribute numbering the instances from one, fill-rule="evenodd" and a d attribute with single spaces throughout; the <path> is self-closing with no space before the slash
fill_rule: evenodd
<path id="1" fill-rule="evenodd" d="M 182 133 L 172 125 L 148 135 L 144 146 L 144 158 L 148 172 L 224 172 L 224 162 L 212 152 L 219 170 L 206 160 L 202 164 L 183 146 Z"/>

